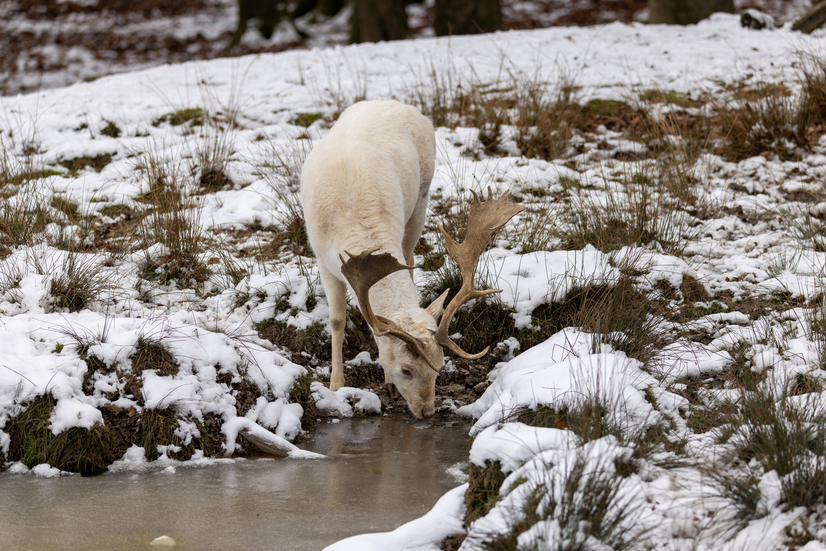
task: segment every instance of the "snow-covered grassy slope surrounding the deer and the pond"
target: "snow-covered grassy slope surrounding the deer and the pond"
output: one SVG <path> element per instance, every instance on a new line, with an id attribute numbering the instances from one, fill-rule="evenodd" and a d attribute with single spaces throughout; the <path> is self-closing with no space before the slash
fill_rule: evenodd
<path id="1" fill-rule="evenodd" d="M 285 213 L 297 205 L 301 157 L 325 135 L 335 112 L 357 97 L 414 101 L 430 86 L 431 70 L 487 84 L 515 73 L 553 80 L 563 71 L 582 87 L 583 101 L 629 101 L 650 88 L 694 94 L 738 80 L 785 81 L 795 91 L 795 50 L 822 53 L 823 48 L 823 31 L 812 36 L 788 27 L 749 31 L 738 17 L 718 14 L 688 27 L 615 23 L 216 59 L 3 98 L 0 138 L 21 158 L 27 152 L 33 169 L 52 173 L 30 184 L 36 194 L 10 194 L 2 208 L 39 197 L 51 205 L 45 208 L 55 211 L 57 222 L 43 235 L 51 245 L 19 246 L 0 261 L 0 426 L 34 397 L 50 393 L 56 401 L 50 417 L 55 434 L 100 424 L 106 406 L 138 413 L 171 406 L 178 412 L 182 443 L 191 444 L 197 423 L 214 414 L 221 417 L 226 454 L 235 450 L 240 431 L 301 454 L 287 441 L 301 431 L 303 414 L 300 405 L 289 402 L 290 390 L 297 378 L 310 371 L 323 375 L 324 368 L 292 363 L 278 343 L 259 337 L 256 324 L 274 318 L 299 329 L 321 324 L 326 330 L 323 288 L 311 258 L 286 247 L 267 260 L 248 253 L 266 245 L 273 237 L 270 229 L 283 226 Z M 213 122 L 170 124 L 171 113 L 192 114 L 194 108 Z M 111 131 L 110 123 L 119 132 Z M 576 135 L 570 152 L 552 161 L 518 156 L 508 139 L 501 156 L 488 157 L 471 128 L 440 127 L 436 137 L 431 192 L 441 204 L 445 198 L 462 201 L 469 188 L 491 186 L 497 194 L 510 189 L 529 206 L 546 208 L 544 223 L 560 226 L 557 235 L 565 234 L 566 213 L 577 204 L 619 204 L 617 197 L 629 197 L 634 185 L 626 177 L 643 165 L 639 159 L 623 160 L 639 144 L 604 127 Z M 207 173 L 204 159 L 221 151 L 228 158 L 229 180 L 217 190 L 199 188 Z M 716 298 L 689 304 L 701 313 L 688 320 L 652 318 L 671 339 L 645 363 L 629 358 L 616 342 L 605 344 L 601 336 L 568 328 L 498 364 L 482 398 L 460 413 L 475 421 L 470 461 L 477 468 L 498 462 L 506 476 L 501 500 L 463 527 L 460 487 L 411 525 L 349 539 L 333 549 L 439 549 L 444 537 L 463 531 L 468 534 L 463 551 L 484 549 L 485 541 L 515 530 L 531 503 L 539 520 L 522 527 L 519 549 L 735 550 L 792 544 L 822 549 L 819 542 L 826 537 L 816 525 L 819 510 L 778 505 L 781 477 L 757 460 L 747 463 L 759 490 L 759 514 L 741 524 L 730 522 L 736 507 L 721 496 L 708 468 L 742 465 L 721 444 L 721 427 L 695 431 L 691 417 L 738 400 L 738 388 L 718 377 L 740 361 L 738 354 L 750 373 L 766 375 L 759 382 L 765 392 L 779 395 L 778 389 L 795 378 L 823 382 L 812 306 L 823 288 L 826 253 L 801 238 L 795 221 L 826 211 L 823 202 L 799 198 L 803 192 L 824 196 L 824 153 L 818 144 L 796 160 L 763 155 L 728 162 L 701 156 L 690 167 L 691 177 L 709 214 L 680 215 L 674 223 L 686 247 L 673 254 L 654 244 L 607 254 L 591 245 L 521 254 L 517 237 L 520 225 L 530 223 L 529 211 L 512 221 L 483 257 L 480 273 L 503 289 L 502 302 L 513 307 L 517 329 L 532 325 L 540 305 L 562 301 L 577 286 L 615 282 L 620 271 L 631 273 L 640 292 L 672 311 L 687 304 L 679 291 L 686 280 L 699 280 Z M 97 171 L 70 162 L 82 158 L 109 162 Z M 211 273 L 190 285 L 147 277 L 147 267 L 157 265 L 163 272 L 170 251 L 162 245 L 115 253 L 83 249 L 89 252 L 73 253 L 74 258 L 99 264 L 105 284 L 86 307 L 70 311 L 53 283 L 71 267 L 69 253 L 53 246 L 60 222 L 79 244 L 93 242 L 96 231 L 126 221 L 121 206 L 138 212 L 156 200 L 159 173 L 178 178 L 192 192 L 187 211 L 200 220 L 198 231 L 220 235 L 234 254 L 219 258 L 204 249 L 200 260 Z M 77 205 L 73 216 L 79 221 L 55 207 L 66 204 Z M 425 238 L 434 242 L 434 232 Z M 547 248 L 558 243 L 554 237 Z M 414 277 L 425 288 L 434 274 L 418 268 Z M 668 289 L 676 290 L 667 294 Z M 764 295 L 782 297 L 781 306 L 768 306 L 767 298 L 753 312 L 738 310 L 742 301 Z M 140 397 L 134 392 L 126 397 L 134 386 L 126 387 L 122 375 L 131 373 L 131 357 L 145 340 L 168 349 L 178 370 L 133 373 L 140 376 Z M 510 342 L 511 356 L 517 349 Z M 84 378 L 91 357 L 106 368 Z M 244 378 L 261 396 L 242 413 L 233 385 Z M 691 392 L 687 384 L 693 385 Z M 375 395 L 359 389 L 334 395 L 316 382 L 312 392 L 330 415 L 379 407 Z M 582 439 L 564 424 L 505 422 L 514 411 L 563 411 L 588 403 L 606 406 L 611 422 L 623 429 Z M 668 444 L 635 455 L 635 439 L 649 430 L 662 430 Z M 10 441 L 0 431 L 4 453 Z M 122 461 L 137 457 L 131 449 Z M 20 464 L 12 468 L 28 472 Z M 48 466 L 36 469 L 54 474 Z M 572 479 L 581 485 L 572 487 Z M 597 490 L 610 496 L 605 509 L 614 522 L 610 533 L 596 534 L 578 520 L 567 523 L 572 517 L 566 511 Z M 810 516 L 800 520 L 804 514 Z M 794 539 L 801 530 L 808 536 Z M 811 540 L 802 541 L 806 538 Z"/>

